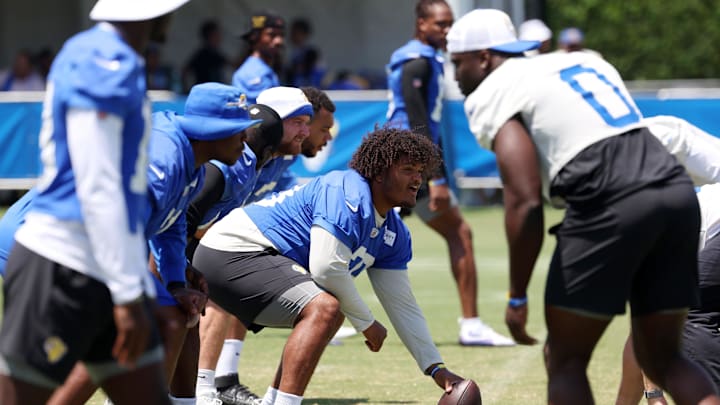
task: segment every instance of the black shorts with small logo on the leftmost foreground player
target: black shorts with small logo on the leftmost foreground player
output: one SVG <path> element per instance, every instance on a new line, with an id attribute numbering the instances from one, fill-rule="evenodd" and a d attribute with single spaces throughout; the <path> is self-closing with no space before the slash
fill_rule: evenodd
<path id="1" fill-rule="evenodd" d="M 102 282 L 16 243 L 8 260 L 3 293 L 0 354 L 9 364 L 29 367 L 48 379 L 41 382 L 30 378 L 28 382 L 60 385 L 77 361 L 117 364 L 112 356 L 117 334 L 114 304 Z M 148 317 L 152 318 L 151 302 L 146 303 Z M 157 351 L 159 344 L 153 326 L 148 352 Z"/>

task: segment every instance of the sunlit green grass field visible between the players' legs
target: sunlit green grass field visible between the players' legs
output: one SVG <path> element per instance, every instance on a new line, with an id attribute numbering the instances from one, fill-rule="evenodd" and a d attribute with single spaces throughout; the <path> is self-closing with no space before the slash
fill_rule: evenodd
<path id="1" fill-rule="evenodd" d="M 466 209 L 474 231 L 478 266 L 479 310 L 483 320 L 507 334 L 504 308 L 508 285 L 507 248 L 501 208 Z M 561 212 L 546 209 L 546 226 L 558 222 Z M 459 301 L 443 240 L 415 216 L 408 218 L 413 235 L 414 259 L 410 275 L 415 296 L 428 320 L 431 333 L 446 364 L 454 372 L 477 381 L 485 404 L 542 404 L 547 378 L 542 347 L 469 348 L 457 344 Z M 543 288 L 554 239 L 546 235 L 542 256 L 530 285 L 528 331 L 545 338 Z M 359 288 L 374 314 L 388 327 L 388 338 L 379 353 L 367 350 L 361 335 L 329 346 L 305 394 L 307 404 L 433 404 L 441 395 L 429 377 L 418 370 L 385 316 L 363 274 Z M 599 404 L 614 403 L 620 380 L 622 346 L 628 319 L 616 319 L 595 350 L 589 375 Z M 265 392 L 274 375 L 287 337 L 285 330 L 267 329 L 248 336 L 240 362 L 240 378 L 258 394 Z M 89 402 L 102 404 L 102 394 Z"/>

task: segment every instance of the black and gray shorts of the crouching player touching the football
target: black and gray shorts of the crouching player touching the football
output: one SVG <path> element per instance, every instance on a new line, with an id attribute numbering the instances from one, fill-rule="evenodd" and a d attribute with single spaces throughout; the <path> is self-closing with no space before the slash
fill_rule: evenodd
<path id="1" fill-rule="evenodd" d="M 274 249 L 225 252 L 199 245 L 193 266 L 205 275 L 210 299 L 256 333 L 292 328 L 322 292 L 305 268 Z"/>

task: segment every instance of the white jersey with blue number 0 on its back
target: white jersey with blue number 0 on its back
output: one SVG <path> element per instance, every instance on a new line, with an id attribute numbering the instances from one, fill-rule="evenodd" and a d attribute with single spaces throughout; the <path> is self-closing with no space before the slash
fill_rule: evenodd
<path id="1" fill-rule="evenodd" d="M 548 198 L 552 179 L 580 151 L 644 125 L 617 70 L 582 52 L 507 59 L 468 96 L 465 113 L 470 131 L 490 150 L 500 128 L 520 115 Z"/>

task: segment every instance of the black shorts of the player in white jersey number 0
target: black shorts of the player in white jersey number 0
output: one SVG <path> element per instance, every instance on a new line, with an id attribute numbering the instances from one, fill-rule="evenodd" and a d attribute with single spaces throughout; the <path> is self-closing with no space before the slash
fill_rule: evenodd
<path id="1" fill-rule="evenodd" d="M 545 290 L 549 305 L 633 316 L 697 302 L 697 198 L 690 184 L 648 187 L 593 210 L 568 208 Z"/>

